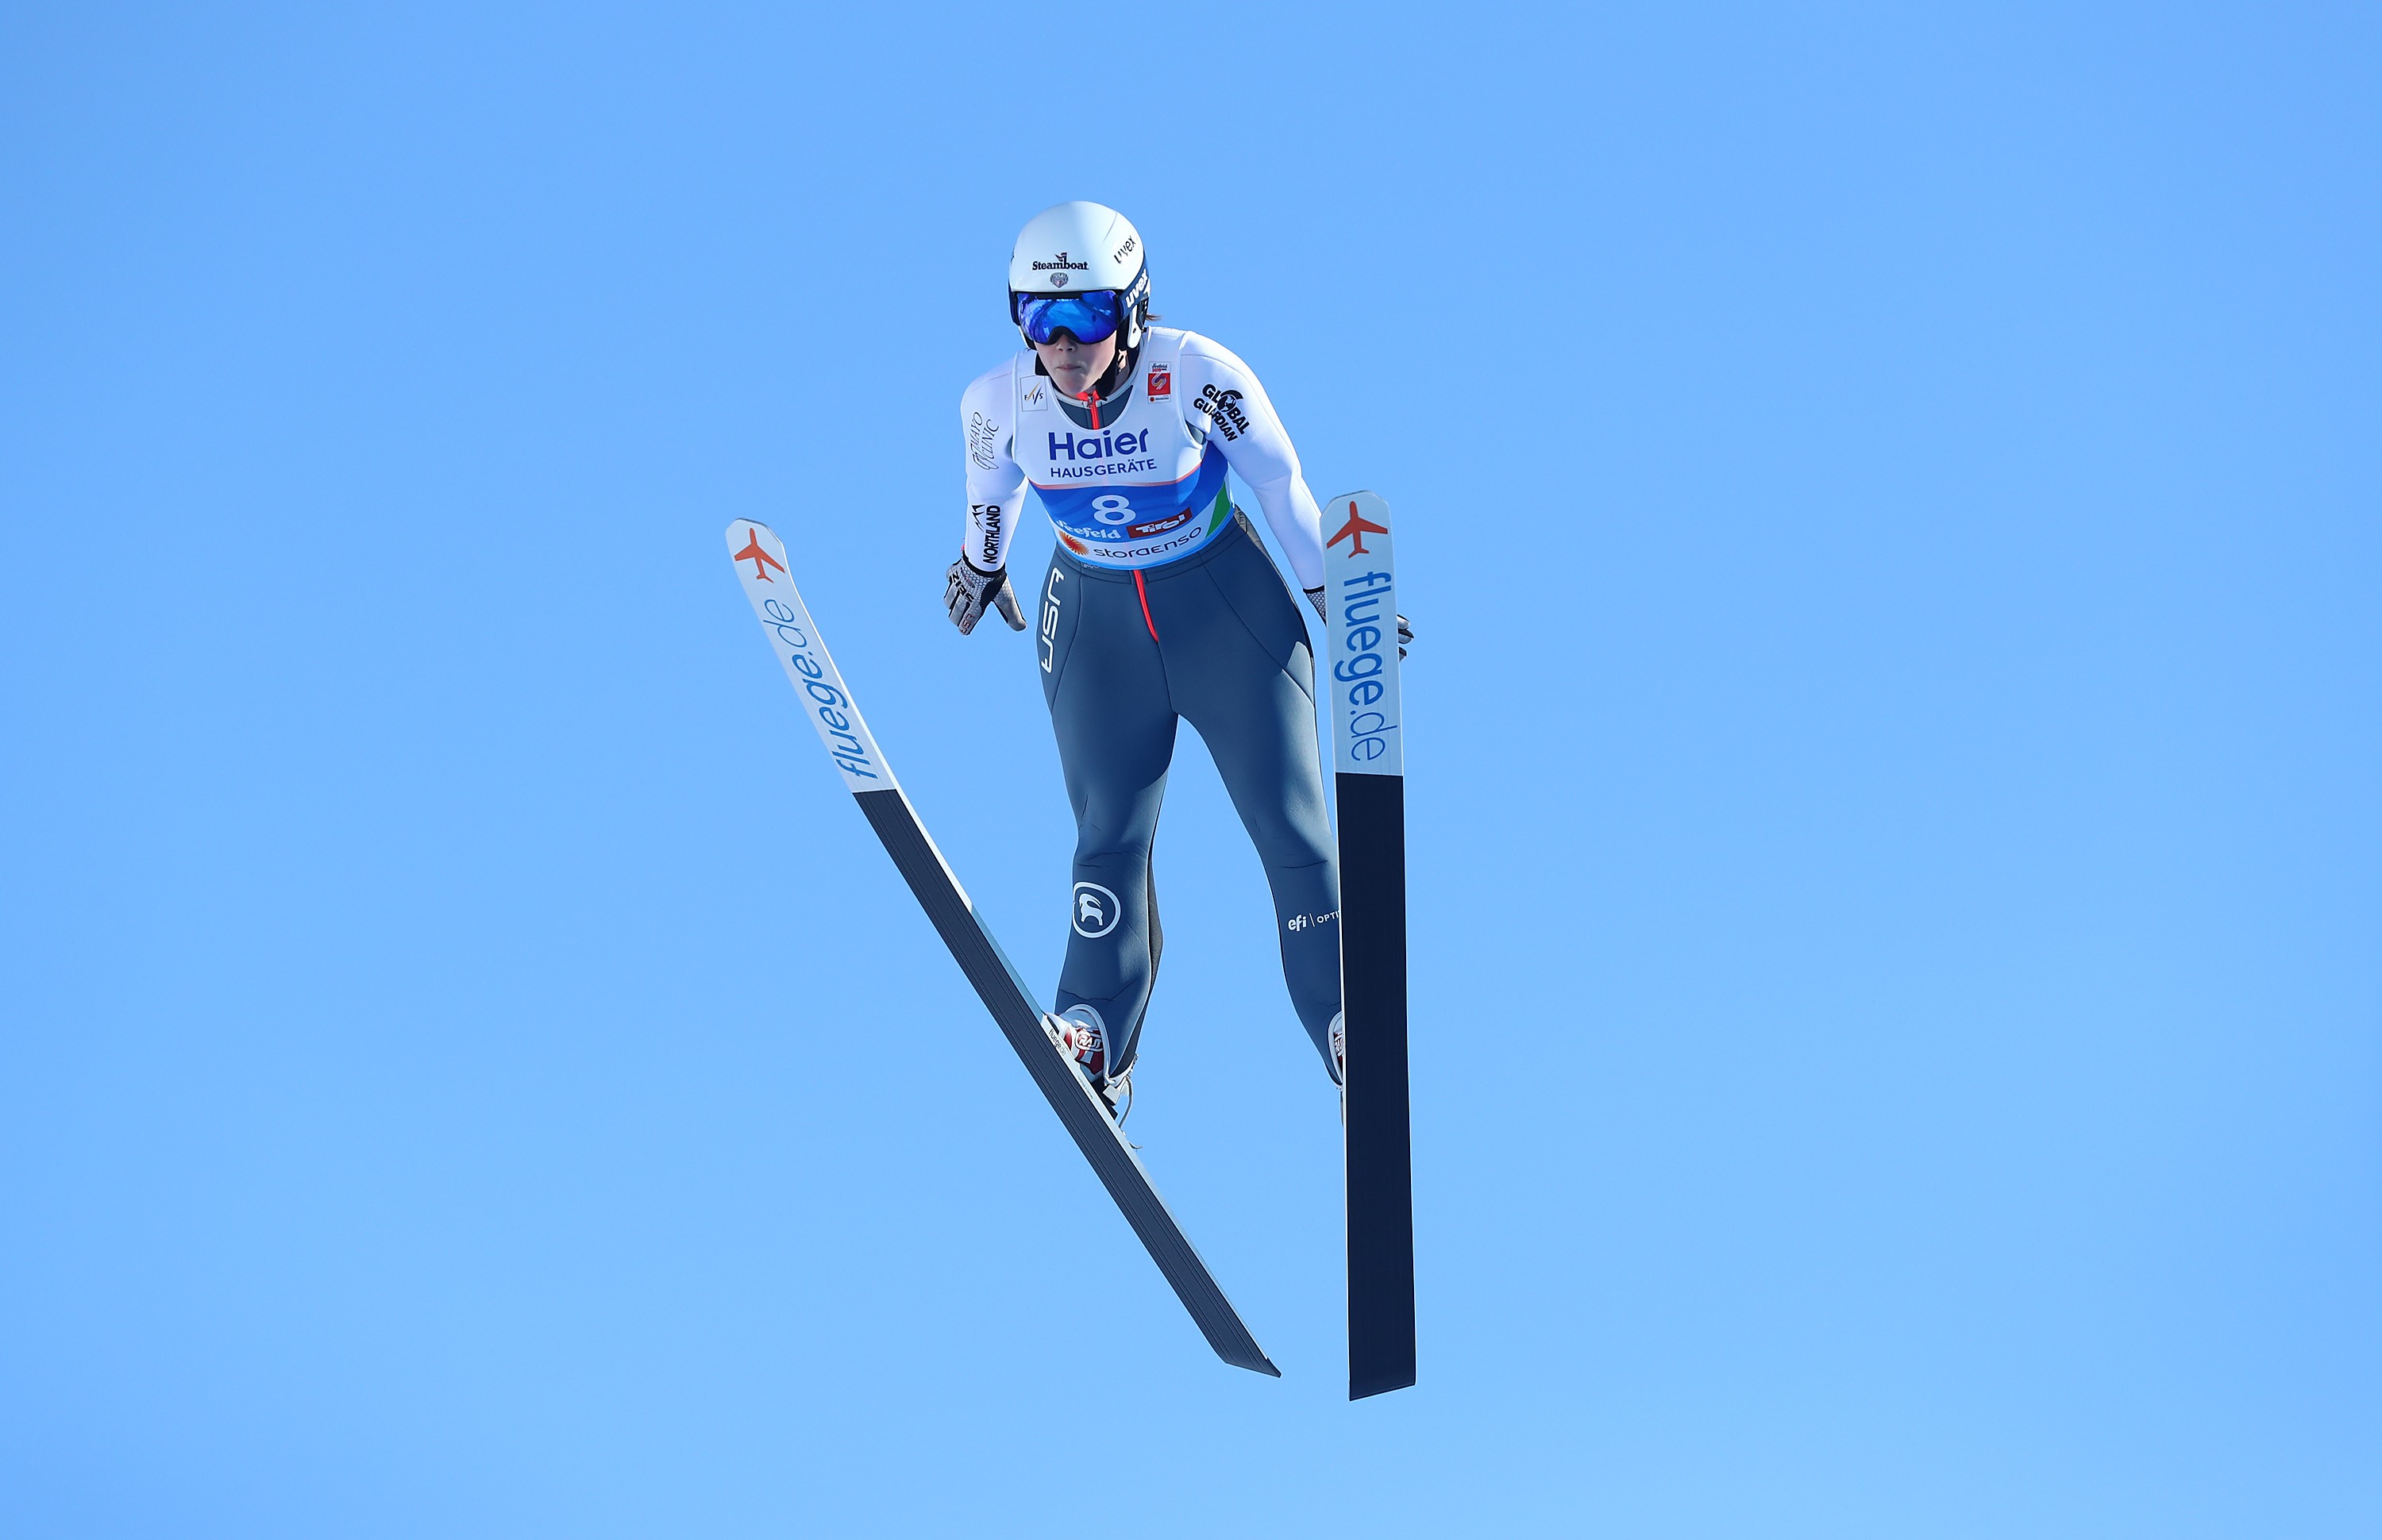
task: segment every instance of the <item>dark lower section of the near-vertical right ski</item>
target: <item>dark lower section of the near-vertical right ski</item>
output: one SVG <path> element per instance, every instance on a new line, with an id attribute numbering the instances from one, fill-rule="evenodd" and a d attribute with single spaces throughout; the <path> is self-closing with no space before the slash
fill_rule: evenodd
<path id="1" fill-rule="evenodd" d="M 1415 1383 L 1405 776 L 1334 776 L 1348 1033 L 1348 1400 Z"/>

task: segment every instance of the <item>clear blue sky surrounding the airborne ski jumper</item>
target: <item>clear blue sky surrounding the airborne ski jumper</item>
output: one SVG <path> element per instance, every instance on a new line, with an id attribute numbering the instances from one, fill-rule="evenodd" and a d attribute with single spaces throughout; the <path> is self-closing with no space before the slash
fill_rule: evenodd
<path id="1" fill-rule="evenodd" d="M 2370 7 L 14 7 L 0 1528 L 2370 1535 Z M 1134 1131 L 960 388 L 1060 198 L 1398 514 L 1422 1383 L 1196 738 Z M 1039 566 L 1048 528 L 1027 526 Z"/>

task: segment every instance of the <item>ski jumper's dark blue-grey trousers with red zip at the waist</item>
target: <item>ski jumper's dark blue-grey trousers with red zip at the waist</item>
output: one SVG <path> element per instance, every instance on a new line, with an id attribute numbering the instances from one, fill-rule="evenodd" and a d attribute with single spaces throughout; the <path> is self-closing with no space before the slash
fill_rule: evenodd
<path id="1" fill-rule="evenodd" d="M 1139 581 L 1136 581 L 1139 576 Z M 1339 1012 L 1339 871 L 1315 750 L 1315 657 L 1298 597 L 1246 517 L 1141 574 L 1060 547 L 1036 657 L 1074 807 L 1074 895 L 1058 1009 L 1091 1004 L 1134 1062 L 1162 947 L 1151 840 L 1174 724 L 1198 728 L 1274 890 L 1282 976 L 1329 1064 Z"/>

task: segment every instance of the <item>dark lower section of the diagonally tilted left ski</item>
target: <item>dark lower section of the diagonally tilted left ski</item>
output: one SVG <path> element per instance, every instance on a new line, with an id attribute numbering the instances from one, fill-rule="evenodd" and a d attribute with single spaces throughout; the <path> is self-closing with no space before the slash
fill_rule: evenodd
<path id="1" fill-rule="evenodd" d="M 1167 1214 L 1167 1204 L 1141 1171 L 1141 1162 L 1124 1145 L 1124 1135 L 1108 1121 L 1098 1093 L 1050 1045 L 1043 1031 L 1043 1014 L 1034 1004 L 1031 993 L 1027 993 L 1017 978 L 1017 969 L 1010 966 L 1000 945 L 967 904 L 967 895 L 950 878 L 950 869 L 943 866 L 943 857 L 927 838 L 927 828 L 917 821 L 910 800 L 900 788 L 862 790 L 853 793 L 853 800 L 860 802 L 869 828 L 884 840 L 893 866 L 900 869 L 927 919 L 943 935 L 953 962 L 967 974 L 967 983 L 977 985 L 977 997 L 993 1014 L 1000 1035 L 1017 1050 L 1017 1059 L 1034 1076 L 1034 1085 L 1050 1102 L 1050 1109 L 1058 1112 L 1058 1121 L 1067 1126 L 1074 1147 L 1084 1152 L 1100 1185 L 1117 1200 L 1124 1221 L 1134 1226 L 1134 1235 L 1141 1235 L 1141 1245 L 1148 1247 L 1151 1262 L 1174 1285 L 1174 1295 L 1191 1311 L 1191 1321 L 1208 1338 L 1208 1347 L 1215 1347 L 1215 1357 L 1236 1369 L 1253 1369 L 1279 1378 L 1282 1371 L 1265 1357 L 1258 1340 L 1248 1335 L 1248 1326 L 1231 1309 L 1231 1302 L 1224 1300 L 1224 1290 L 1217 1288 L 1208 1264 L 1191 1250 L 1191 1240 L 1181 1233 L 1181 1226 Z"/>

